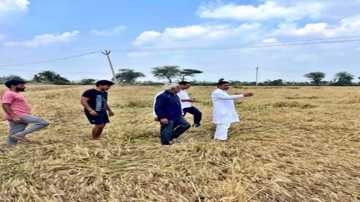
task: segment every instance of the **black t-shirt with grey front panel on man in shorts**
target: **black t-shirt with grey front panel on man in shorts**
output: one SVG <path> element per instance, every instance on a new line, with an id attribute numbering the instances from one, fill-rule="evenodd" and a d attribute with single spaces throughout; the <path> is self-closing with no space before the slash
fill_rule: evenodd
<path id="1" fill-rule="evenodd" d="M 97 91 L 96 89 L 90 89 L 82 94 L 82 97 L 87 97 L 89 100 L 87 103 L 94 111 L 106 111 L 108 108 L 108 93 Z"/>

